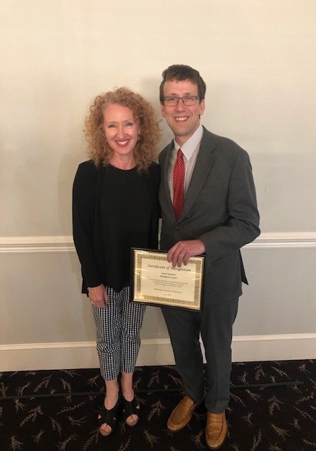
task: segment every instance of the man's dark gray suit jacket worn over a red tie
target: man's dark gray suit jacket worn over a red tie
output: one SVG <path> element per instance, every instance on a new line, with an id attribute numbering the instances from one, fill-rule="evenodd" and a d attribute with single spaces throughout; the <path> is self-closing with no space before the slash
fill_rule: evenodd
<path id="1" fill-rule="evenodd" d="M 247 283 L 240 248 L 260 235 L 250 159 L 235 142 L 204 128 L 183 213 L 174 215 L 168 186 L 171 142 L 159 154 L 161 249 L 199 238 L 205 245 L 203 303 L 229 302 Z"/>

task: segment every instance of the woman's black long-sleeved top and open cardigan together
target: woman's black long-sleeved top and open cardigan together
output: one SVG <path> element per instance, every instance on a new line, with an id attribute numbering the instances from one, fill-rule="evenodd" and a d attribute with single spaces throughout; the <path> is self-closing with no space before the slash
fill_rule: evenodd
<path id="1" fill-rule="evenodd" d="M 147 172 L 85 161 L 73 183 L 73 240 L 83 292 L 103 283 L 120 291 L 130 282 L 130 248 L 157 249 L 159 166 Z"/>

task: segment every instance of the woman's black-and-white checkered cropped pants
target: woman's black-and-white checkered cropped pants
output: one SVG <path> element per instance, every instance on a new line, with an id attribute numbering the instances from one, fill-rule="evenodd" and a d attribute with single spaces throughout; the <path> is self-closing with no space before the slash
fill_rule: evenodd
<path id="1" fill-rule="evenodd" d="M 120 292 L 107 287 L 107 294 L 107 308 L 92 309 L 101 375 L 105 381 L 112 381 L 120 371 L 132 373 L 135 369 L 145 306 L 129 301 L 129 287 Z"/>

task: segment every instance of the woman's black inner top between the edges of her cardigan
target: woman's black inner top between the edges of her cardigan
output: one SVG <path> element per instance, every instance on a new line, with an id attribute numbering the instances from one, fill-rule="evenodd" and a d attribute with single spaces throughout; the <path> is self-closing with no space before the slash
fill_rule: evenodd
<path id="1" fill-rule="evenodd" d="M 109 166 L 101 199 L 105 285 L 120 290 L 130 280 L 130 248 L 148 247 L 150 193 L 137 168 Z"/>

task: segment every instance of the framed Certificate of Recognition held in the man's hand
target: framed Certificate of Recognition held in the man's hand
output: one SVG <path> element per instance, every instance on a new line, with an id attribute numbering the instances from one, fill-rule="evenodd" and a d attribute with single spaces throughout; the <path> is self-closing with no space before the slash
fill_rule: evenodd
<path id="1" fill-rule="evenodd" d="M 164 251 L 131 249 L 130 301 L 154 307 L 202 311 L 204 256 L 172 267 Z"/>

